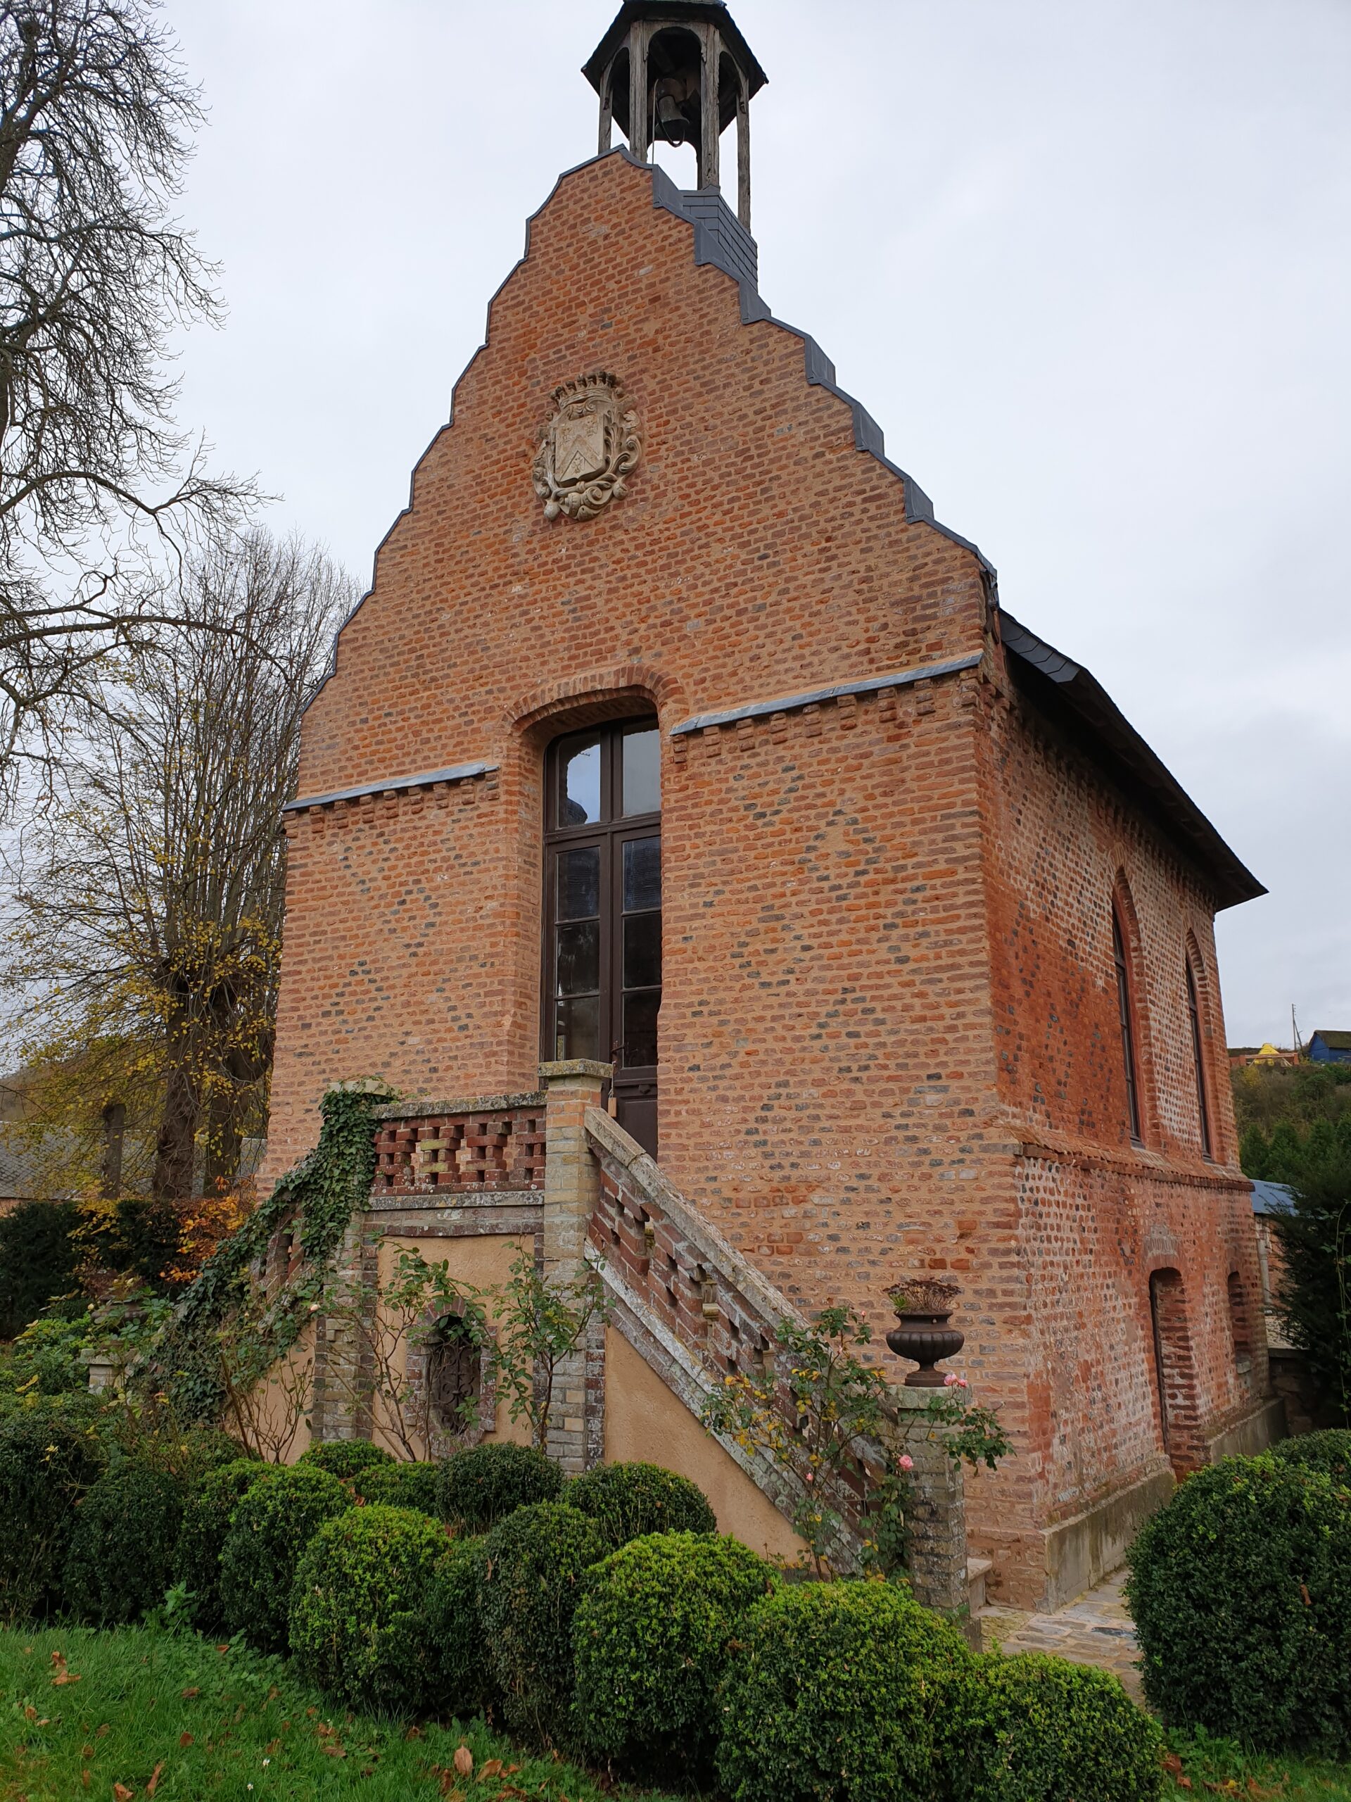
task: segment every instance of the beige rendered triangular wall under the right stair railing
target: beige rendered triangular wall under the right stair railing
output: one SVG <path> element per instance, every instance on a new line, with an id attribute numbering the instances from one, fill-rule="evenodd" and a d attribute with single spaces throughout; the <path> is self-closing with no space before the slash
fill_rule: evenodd
<path id="1" fill-rule="evenodd" d="M 753 1552 L 796 1561 L 807 1550 L 778 1508 L 647 1368 L 623 1333 L 607 1326 L 605 1463 L 629 1460 L 688 1476 L 713 1505 L 719 1528 Z"/>

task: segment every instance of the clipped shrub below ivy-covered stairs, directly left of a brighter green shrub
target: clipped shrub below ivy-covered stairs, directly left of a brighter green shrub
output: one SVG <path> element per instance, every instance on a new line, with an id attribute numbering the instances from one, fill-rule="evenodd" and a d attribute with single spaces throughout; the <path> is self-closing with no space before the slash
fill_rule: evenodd
<path id="1" fill-rule="evenodd" d="M 313 1535 L 351 1508 L 351 1494 L 312 1463 L 277 1469 L 240 1497 L 220 1553 L 225 1625 L 263 1652 L 286 1649 L 286 1611 L 301 1553 Z"/>

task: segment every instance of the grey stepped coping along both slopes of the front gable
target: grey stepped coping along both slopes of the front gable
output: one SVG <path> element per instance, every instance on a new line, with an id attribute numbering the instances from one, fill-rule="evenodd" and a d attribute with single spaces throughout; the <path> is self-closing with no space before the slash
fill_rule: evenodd
<path id="1" fill-rule="evenodd" d="M 321 681 L 315 685 L 315 692 L 310 696 L 310 699 L 304 705 L 304 712 L 306 714 L 310 712 L 310 708 L 313 706 L 313 703 L 319 699 L 319 696 L 324 692 L 324 688 L 330 685 L 330 681 L 337 674 L 337 647 L 339 647 L 339 640 L 342 638 L 342 633 L 351 625 L 351 622 L 357 618 L 357 614 L 362 611 L 362 607 L 366 605 L 366 602 L 371 598 L 371 595 L 375 591 L 375 568 L 380 562 L 380 551 L 385 548 L 385 544 L 389 542 L 389 539 L 398 530 L 400 519 L 403 519 L 407 514 L 413 512 L 413 488 L 414 488 L 414 483 L 416 483 L 418 470 L 427 461 L 427 454 L 431 452 L 432 445 L 441 436 L 441 432 L 450 431 L 450 427 L 456 423 L 456 395 L 459 393 L 459 386 L 465 380 L 465 377 L 468 375 L 468 371 L 474 368 L 474 364 L 479 360 L 479 357 L 483 355 L 483 351 L 488 348 L 488 339 L 492 335 L 492 332 L 490 332 L 490 328 L 492 328 L 492 310 L 497 305 L 499 296 L 503 294 L 503 290 L 506 288 L 506 285 L 512 281 L 512 278 L 515 276 L 515 272 L 519 268 L 522 268 L 524 263 L 526 263 L 526 259 L 530 258 L 531 225 L 546 211 L 546 207 L 549 205 L 549 202 L 553 200 L 553 196 L 558 193 L 558 189 L 562 187 L 562 184 L 566 180 L 569 180 L 573 175 L 578 175 L 582 169 L 591 168 L 593 162 L 603 162 L 605 157 L 621 157 L 625 162 L 630 162 L 636 169 L 645 169 L 652 177 L 652 205 L 654 207 L 663 207 L 666 213 L 674 213 L 676 218 L 685 220 L 686 225 L 694 227 L 694 234 L 695 234 L 695 263 L 697 265 L 712 263 L 715 268 L 721 268 L 726 276 L 731 276 L 731 279 L 737 283 L 737 288 L 740 290 L 740 319 L 742 319 L 742 324 L 755 324 L 757 321 L 767 321 L 769 324 L 778 326 L 782 332 L 791 332 L 794 337 L 802 339 L 802 344 L 803 344 L 803 362 L 805 362 L 805 368 L 807 368 L 807 384 L 811 387 L 825 387 L 827 393 L 834 395 L 838 400 L 843 400 L 845 405 L 852 411 L 852 414 L 854 414 L 854 443 L 856 443 L 856 447 L 859 450 L 866 450 L 872 456 L 875 456 L 877 461 L 883 465 L 883 469 L 890 470 L 892 476 L 897 478 L 897 481 L 901 483 L 901 492 L 904 496 L 906 521 L 910 524 L 926 524 L 926 526 L 931 526 L 937 533 L 940 533 L 940 537 L 946 537 L 953 544 L 960 544 L 962 550 L 971 551 L 971 555 L 978 560 L 980 568 L 985 573 L 985 578 L 987 578 L 989 589 L 991 589 L 991 598 L 994 602 L 998 602 L 998 580 L 1000 578 L 998 578 L 998 571 L 994 569 L 994 564 L 989 562 L 989 559 L 985 557 L 985 553 L 980 550 L 980 546 L 976 542 L 973 542 L 971 539 L 964 539 L 960 532 L 953 532 L 951 526 L 944 526 L 940 521 L 937 521 L 933 517 L 933 501 L 920 488 L 920 485 L 915 481 L 913 476 L 908 476 L 901 469 L 899 463 L 892 463 L 892 460 L 884 454 L 883 429 L 877 425 L 877 422 L 863 407 L 861 402 L 854 400 L 852 395 L 847 395 L 845 389 L 836 384 L 836 380 L 834 380 L 834 364 L 821 351 L 821 348 L 816 342 L 816 339 L 811 337 L 811 333 L 800 332 L 796 326 L 787 324 L 784 319 L 775 319 L 775 315 L 769 310 L 769 306 L 766 305 L 766 301 L 760 299 L 758 288 L 755 288 L 755 287 L 751 287 L 751 283 L 744 281 L 742 276 L 740 276 L 740 270 L 737 270 L 735 267 L 731 267 L 721 256 L 721 247 L 717 243 L 715 234 L 701 220 L 692 218 L 690 213 L 685 211 L 685 207 L 681 204 L 681 191 L 676 186 L 676 182 L 672 182 L 672 178 L 666 175 L 666 171 L 663 168 L 659 168 L 659 164 L 656 164 L 656 162 L 641 162 L 638 157 L 634 157 L 634 153 L 630 150 L 627 150 L 625 146 L 620 144 L 616 150 L 607 150 L 607 151 L 603 151 L 598 157 L 584 157 L 582 162 L 575 162 L 569 169 L 564 169 L 562 175 L 558 175 L 558 178 L 555 180 L 555 184 L 549 189 L 549 193 L 546 195 L 546 198 L 540 202 L 539 207 L 535 207 L 535 211 L 526 220 L 526 249 L 515 259 L 515 263 L 508 268 L 506 276 L 497 283 L 497 287 L 494 288 L 494 292 L 492 292 L 492 296 L 488 299 L 488 317 L 486 317 L 486 328 L 488 330 L 485 330 L 483 344 L 479 344 L 479 348 L 468 359 L 468 362 L 459 371 L 459 375 L 456 377 L 456 380 L 454 380 L 454 384 L 450 387 L 450 416 L 447 418 L 445 425 L 438 425 L 436 427 L 436 431 L 432 432 L 432 436 L 427 440 L 427 445 L 422 450 L 422 456 L 418 456 L 416 463 L 413 465 L 413 470 L 409 474 L 409 505 L 403 506 L 403 508 L 400 508 L 398 514 L 394 514 L 394 517 L 389 523 L 389 530 L 380 539 L 380 542 L 375 546 L 375 553 L 371 557 L 371 580 L 369 580 L 369 586 L 360 595 L 360 598 L 357 600 L 357 604 L 353 605 L 353 609 L 346 616 L 346 620 L 342 620 L 342 623 L 339 625 L 339 629 L 333 633 L 333 643 L 331 643 L 330 652 L 328 652 L 328 663 L 324 667 L 324 674 L 322 674 Z M 816 359 L 816 360 L 812 360 L 812 359 Z M 825 377 L 825 371 L 829 371 L 829 380 Z"/>

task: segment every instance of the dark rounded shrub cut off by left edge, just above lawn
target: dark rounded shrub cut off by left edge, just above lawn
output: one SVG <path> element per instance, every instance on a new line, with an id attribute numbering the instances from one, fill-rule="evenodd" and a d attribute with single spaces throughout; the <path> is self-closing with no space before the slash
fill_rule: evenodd
<path id="1" fill-rule="evenodd" d="M 76 1503 L 101 1469 L 92 1427 L 38 1407 L 0 1425 L 2 1620 L 36 1620 L 59 1604 Z"/>

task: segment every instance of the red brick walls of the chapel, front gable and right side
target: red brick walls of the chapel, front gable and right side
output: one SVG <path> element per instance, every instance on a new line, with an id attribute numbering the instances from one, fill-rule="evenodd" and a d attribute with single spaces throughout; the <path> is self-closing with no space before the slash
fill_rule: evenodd
<path id="1" fill-rule="evenodd" d="M 1009 703 L 976 557 L 906 521 L 848 407 L 807 386 L 802 341 L 744 326 L 692 236 L 621 157 L 564 178 L 418 465 L 310 710 L 301 793 L 499 769 L 292 816 L 270 1168 L 313 1141 L 335 1079 L 535 1087 L 549 737 L 614 710 L 668 733 L 984 649 L 933 685 L 663 737 L 661 1162 L 807 1306 L 883 1326 L 901 1274 L 957 1276 L 962 1364 L 1020 1438 L 973 1519 L 1034 1564 L 1041 1526 L 1162 1461 L 1149 1269 L 1183 1279 L 1198 1418 L 1238 1406 L 1216 1296 L 1248 1269 L 1239 1189 L 1200 1159 L 1182 980 L 1191 932 L 1218 1052 L 1209 906 Z M 539 431 L 596 368 L 623 380 L 645 461 L 602 517 L 548 524 Z M 1230 1159 L 1227 1083 L 1212 1097 Z"/>

